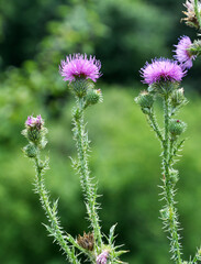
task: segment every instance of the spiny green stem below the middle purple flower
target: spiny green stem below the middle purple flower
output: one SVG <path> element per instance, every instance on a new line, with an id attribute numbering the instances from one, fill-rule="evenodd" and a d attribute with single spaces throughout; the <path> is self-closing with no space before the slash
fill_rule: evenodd
<path id="1" fill-rule="evenodd" d="M 85 131 L 85 122 L 83 122 L 83 109 L 85 101 L 82 98 L 78 98 L 77 100 L 77 109 L 75 117 L 75 140 L 78 151 L 78 160 L 79 160 L 79 174 L 81 179 L 81 186 L 83 189 L 86 206 L 89 216 L 89 220 L 93 228 L 93 235 L 98 246 L 102 245 L 102 235 L 101 228 L 99 224 L 99 217 L 97 213 L 97 191 L 94 185 L 91 183 L 90 172 L 88 166 L 88 151 L 89 151 L 89 141 L 88 134 Z"/>

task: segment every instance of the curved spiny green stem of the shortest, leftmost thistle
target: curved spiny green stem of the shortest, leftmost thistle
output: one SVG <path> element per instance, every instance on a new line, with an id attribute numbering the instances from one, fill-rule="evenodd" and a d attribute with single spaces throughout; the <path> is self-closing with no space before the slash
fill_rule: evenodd
<path id="1" fill-rule="evenodd" d="M 40 195 L 42 206 L 47 215 L 48 221 L 51 222 L 51 227 L 49 227 L 48 231 L 52 233 L 52 235 L 54 235 L 55 240 L 60 245 L 60 248 L 64 250 L 64 252 L 68 256 L 69 261 L 72 264 L 80 264 L 80 262 L 77 260 L 74 251 L 68 246 L 66 240 L 64 239 L 64 234 L 63 234 L 62 228 L 59 227 L 59 222 L 56 217 L 56 213 L 53 211 L 53 208 L 51 207 L 48 194 L 47 194 L 44 183 L 43 183 L 42 168 L 40 166 L 38 154 L 35 157 L 35 167 L 36 167 L 36 179 L 35 179 L 36 191 Z"/>

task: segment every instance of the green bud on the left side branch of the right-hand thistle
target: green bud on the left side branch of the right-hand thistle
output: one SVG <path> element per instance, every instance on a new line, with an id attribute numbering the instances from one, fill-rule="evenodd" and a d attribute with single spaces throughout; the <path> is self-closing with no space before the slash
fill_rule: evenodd
<path id="1" fill-rule="evenodd" d="M 141 106 L 142 110 L 144 110 L 145 113 L 148 113 L 148 110 L 153 107 L 154 103 L 154 96 L 147 91 L 142 91 L 139 96 L 135 98 L 135 101 Z"/>

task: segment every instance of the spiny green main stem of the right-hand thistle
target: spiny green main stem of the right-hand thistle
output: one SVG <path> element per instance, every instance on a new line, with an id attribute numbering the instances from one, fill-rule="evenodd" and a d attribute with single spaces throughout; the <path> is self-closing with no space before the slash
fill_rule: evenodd
<path id="1" fill-rule="evenodd" d="M 169 155 L 170 155 L 170 136 L 169 136 L 169 98 L 165 96 L 164 99 L 164 120 L 165 120 L 165 140 L 164 140 L 164 153 L 163 153 L 163 167 L 164 167 L 164 195 L 167 202 L 167 208 L 169 210 L 169 219 L 166 223 L 168 226 L 168 231 L 170 233 L 170 252 L 172 253 L 172 258 L 177 264 L 181 264 L 181 251 L 179 243 L 179 234 L 178 234 L 178 217 L 177 210 L 175 208 L 174 200 L 174 187 L 169 177 Z"/>

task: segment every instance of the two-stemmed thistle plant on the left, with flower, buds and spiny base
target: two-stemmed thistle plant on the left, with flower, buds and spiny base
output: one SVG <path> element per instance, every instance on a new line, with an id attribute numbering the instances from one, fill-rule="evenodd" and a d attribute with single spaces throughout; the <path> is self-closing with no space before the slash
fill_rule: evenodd
<path id="1" fill-rule="evenodd" d="M 45 187 L 45 172 L 48 169 L 48 158 L 42 160 L 42 151 L 45 148 L 47 140 L 47 129 L 41 116 L 29 117 L 25 122 L 23 135 L 27 139 L 29 144 L 23 148 L 25 155 L 33 160 L 35 165 L 35 191 L 40 196 L 43 209 L 48 219 L 46 229 L 54 238 L 54 241 L 60 246 L 67 256 L 68 263 L 79 264 L 80 253 L 83 261 L 97 264 L 122 263 L 119 256 L 125 251 L 119 251 L 114 245 L 115 224 L 110 229 L 109 235 L 101 232 L 98 210 L 100 205 L 97 201 L 97 184 L 90 175 L 89 169 L 89 140 L 86 131 L 85 111 L 102 101 L 102 92 L 94 88 L 94 82 L 101 76 L 101 63 L 96 57 L 75 54 L 62 61 L 59 73 L 75 96 L 76 106 L 72 109 L 72 133 L 76 142 L 77 158 L 71 158 L 72 167 L 80 177 L 80 185 L 83 193 L 83 200 L 89 220 L 89 230 L 83 235 L 72 238 L 65 232 L 60 226 L 57 205 L 58 200 L 51 201 L 49 191 Z M 105 240 L 105 241 L 104 241 Z"/>

